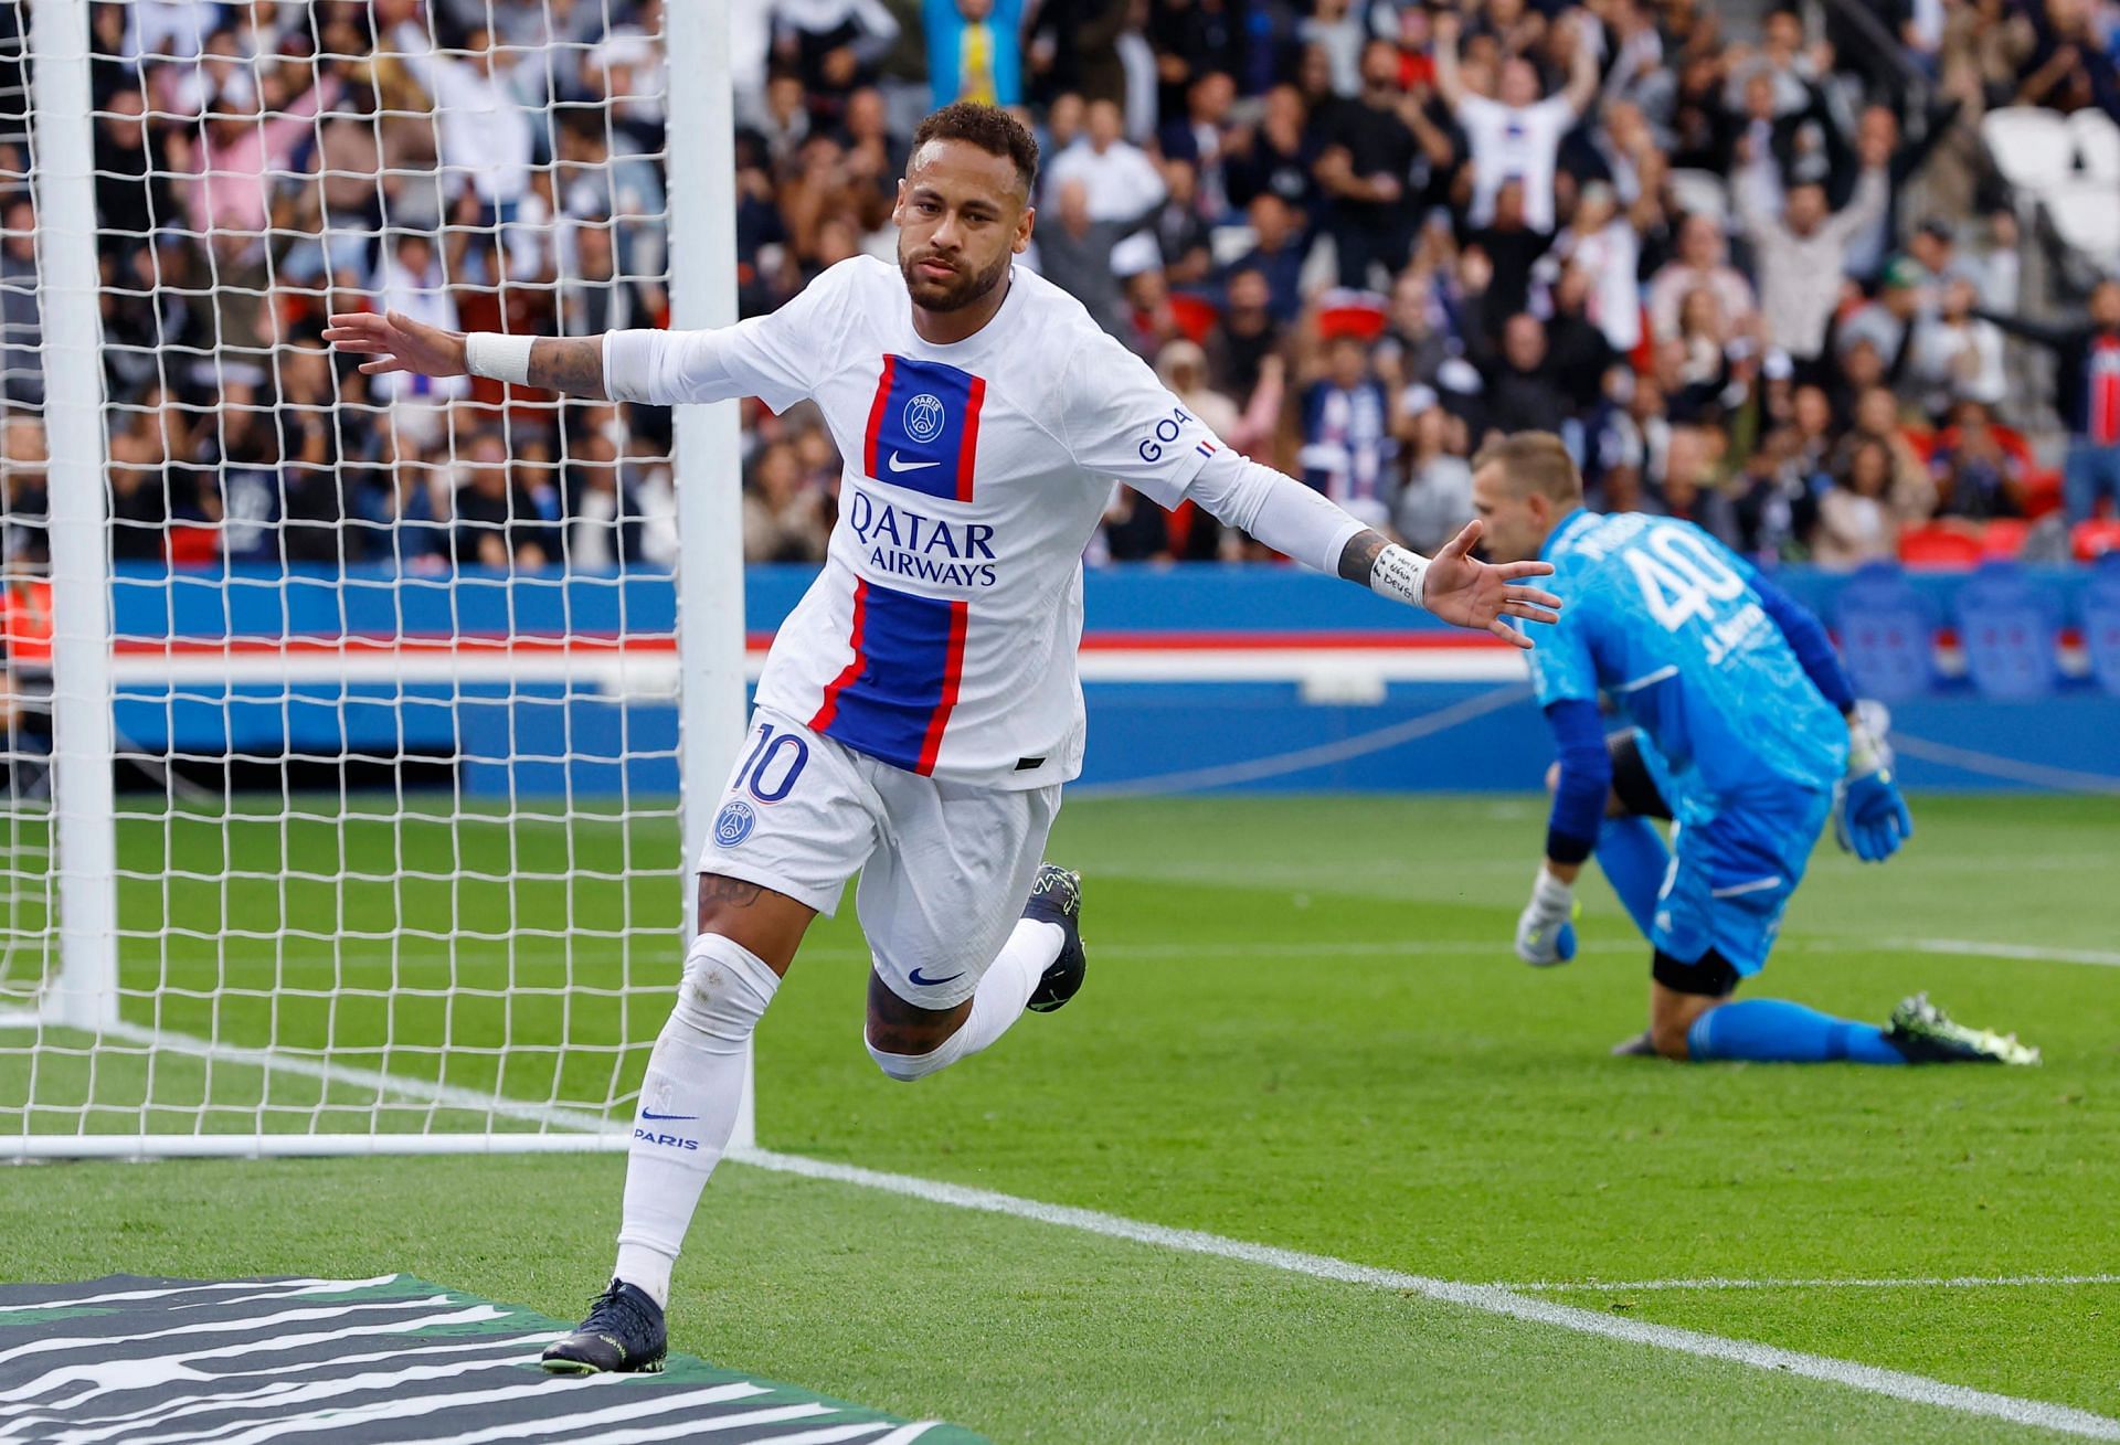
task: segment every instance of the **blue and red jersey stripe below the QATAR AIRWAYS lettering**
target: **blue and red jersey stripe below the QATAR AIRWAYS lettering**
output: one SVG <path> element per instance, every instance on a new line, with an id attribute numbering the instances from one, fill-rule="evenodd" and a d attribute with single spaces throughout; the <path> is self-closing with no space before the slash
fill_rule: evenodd
<path id="1" fill-rule="evenodd" d="M 965 602 L 856 583 L 854 657 L 825 689 L 810 731 L 909 773 L 933 773 L 965 680 L 969 623 Z"/>

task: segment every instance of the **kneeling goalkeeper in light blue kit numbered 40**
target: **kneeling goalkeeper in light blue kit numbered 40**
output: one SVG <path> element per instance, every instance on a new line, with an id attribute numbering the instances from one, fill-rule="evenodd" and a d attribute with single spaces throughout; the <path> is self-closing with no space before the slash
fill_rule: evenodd
<path id="1" fill-rule="evenodd" d="M 1866 862 L 1912 818 L 1825 629 L 1700 528 L 1592 515 L 1560 439 L 1518 432 L 1473 460 L 1495 561 L 1554 564 L 1571 602 L 1539 623 L 1531 676 L 1558 763 L 1545 862 L 1516 926 L 1526 964 L 1567 962 L 1575 875 L 1596 854 L 1649 939 L 1649 1030 L 1615 1053 L 1791 1064 L 2035 1064 L 1914 996 L 1889 1025 L 1779 998 L 1734 1002 L 1774 945 L 1825 818 Z M 1598 693 L 1632 722 L 1605 737 Z M 1671 845 L 1649 822 L 1671 820 Z"/>

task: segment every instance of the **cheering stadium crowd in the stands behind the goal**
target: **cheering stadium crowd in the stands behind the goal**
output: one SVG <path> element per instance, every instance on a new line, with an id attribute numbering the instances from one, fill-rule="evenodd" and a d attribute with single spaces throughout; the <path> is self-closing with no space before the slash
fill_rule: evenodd
<path id="1" fill-rule="evenodd" d="M 1469 515 L 1482 439 L 1531 426 L 1594 506 L 1760 559 L 1974 530 L 2061 557 L 2120 509 L 2120 282 L 2018 320 L 2029 239 L 1978 136 L 2006 104 L 2120 117 L 2112 0 L 734 11 L 744 314 L 888 256 L 912 125 L 977 97 L 1043 148 L 1030 265 L 1230 445 L 1423 551 Z M 318 339 L 358 305 L 664 324 L 659 28 L 659 0 L 93 4 L 117 555 L 666 564 L 666 413 L 367 379 Z M 42 453 L 25 93 L 0 72 L 17 517 Z M 746 417 L 746 555 L 823 557 L 820 417 Z M 1255 551 L 1115 492 L 1092 559 Z"/>

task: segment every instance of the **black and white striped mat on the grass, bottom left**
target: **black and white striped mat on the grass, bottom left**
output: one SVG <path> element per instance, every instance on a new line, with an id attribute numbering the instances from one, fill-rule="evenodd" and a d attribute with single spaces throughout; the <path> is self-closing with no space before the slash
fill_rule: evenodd
<path id="1" fill-rule="evenodd" d="M 967 1445 L 808 1390 L 672 1356 L 555 1379 L 558 1320 L 411 1275 L 0 1286 L 0 1441 Z"/>

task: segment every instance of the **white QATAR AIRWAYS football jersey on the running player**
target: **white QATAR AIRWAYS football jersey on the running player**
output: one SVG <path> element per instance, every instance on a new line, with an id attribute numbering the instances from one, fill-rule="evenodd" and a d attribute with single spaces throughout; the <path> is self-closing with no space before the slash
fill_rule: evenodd
<path id="1" fill-rule="evenodd" d="M 759 706 L 946 782 L 1081 771 L 1081 553 L 1111 483 L 1177 506 L 1221 447 L 1138 356 L 1024 267 L 977 335 L 931 345 L 873 256 L 772 316 L 632 335 L 655 352 L 606 343 L 613 396 L 810 398 L 846 458 L 825 570 L 774 638 Z"/>

